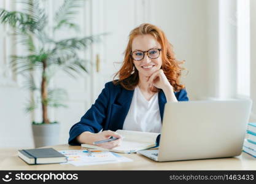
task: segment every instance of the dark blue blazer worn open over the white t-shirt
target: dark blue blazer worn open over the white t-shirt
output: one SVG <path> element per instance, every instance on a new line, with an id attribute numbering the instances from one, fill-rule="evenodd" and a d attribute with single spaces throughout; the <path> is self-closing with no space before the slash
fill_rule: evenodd
<path id="1" fill-rule="evenodd" d="M 125 117 L 130 109 L 134 90 L 126 90 L 121 85 L 114 85 L 108 82 L 105 85 L 95 104 L 83 115 L 79 123 L 73 125 L 69 131 L 70 145 L 80 145 L 76 137 L 82 132 L 90 131 L 97 133 L 104 130 L 117 131 L 123 129 Z M 188 101 L 185 89 L 174 92 L 178 101 Z M 163 121 L 163 111 L 165 109 L 166 97 L 163 90 L 158 93 L 158 104 L 161 121 Z"/>

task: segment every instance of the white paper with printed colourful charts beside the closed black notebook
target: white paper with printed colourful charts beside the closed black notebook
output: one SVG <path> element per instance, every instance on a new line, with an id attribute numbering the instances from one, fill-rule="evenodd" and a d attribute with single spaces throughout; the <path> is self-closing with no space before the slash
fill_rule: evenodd
<path id="1" fill-rule="evenodd" d="M 74 166 L 86 166 L 95 164 L 130 162 L 130 158 L 120 156 L 110 151 L 92 150 L 61 150 L 59 151 L 68 157 L 68 162 L 63 164 L 73 164 Z"/>

